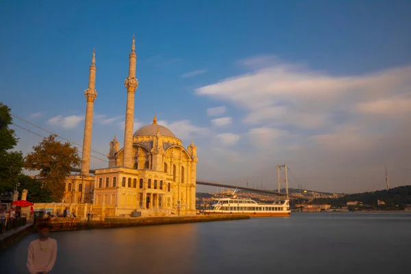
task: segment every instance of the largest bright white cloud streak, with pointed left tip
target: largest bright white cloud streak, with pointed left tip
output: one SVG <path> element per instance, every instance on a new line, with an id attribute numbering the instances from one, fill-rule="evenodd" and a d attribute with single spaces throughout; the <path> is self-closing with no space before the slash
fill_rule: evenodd
<path id="1" fill-rule="evenodd" d="M 262 60 L 267 58 L 248 60 L 245 64 Z M 400 92 L 409 94 L 411 78 L 408 75 L 411 75 L 411 66 L 336 77 L 306 66 L 277 62 L 197 88 L 195 92 L 246 110 L 244 123 L 321 128 L 329 125 L 334 111 L 351 112 L 357 110 L 357 103 L 385 100 Z M 401 108 L 408 109 L 408 103 L 401 103 Z"/>

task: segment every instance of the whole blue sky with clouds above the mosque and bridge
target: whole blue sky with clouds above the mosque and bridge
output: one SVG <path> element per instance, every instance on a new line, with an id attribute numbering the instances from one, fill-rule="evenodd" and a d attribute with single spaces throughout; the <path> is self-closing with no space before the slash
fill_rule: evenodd
<path id="1" fill-rule="evenodd" d="M 106 155 L 114 134 L 123 146 L 134 34 L 134 131 L 157 114 L 194 140 L 197 179 L 273 189 L 287 164 L 290 187 L 362 192 L 386 187 L 386 164 L 390 186 L 411 184 L 410 12 L 401 0 L 1 1 L 0 101 L 82 144 L 95 48 L 92 149 Z M 13 126 L 23 153 L 49 135 L 14 123 L 34 132 Z"/>

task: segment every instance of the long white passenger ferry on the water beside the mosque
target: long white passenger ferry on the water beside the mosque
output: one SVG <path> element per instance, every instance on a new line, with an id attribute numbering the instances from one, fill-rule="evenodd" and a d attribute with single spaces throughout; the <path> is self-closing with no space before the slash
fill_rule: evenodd
<path id="1" fill-rule="evenodd" d="M 249 214 L 251 217 L 290 216 L 290 201 L 257 203 L 252 199 L 221 198 L 216 199 L 210 210 L 204 214 Z"/>

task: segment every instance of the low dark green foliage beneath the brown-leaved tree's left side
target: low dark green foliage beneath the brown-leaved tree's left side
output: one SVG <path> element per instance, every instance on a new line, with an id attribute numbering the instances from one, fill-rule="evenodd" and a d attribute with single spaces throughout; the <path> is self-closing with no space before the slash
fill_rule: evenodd
<path id="1" fill-rule="evenodd" d="M 32 203 L 51 203 L 53 198 L 51 197 L 51 192 L 46 188 L 42 187 L 42 182 L 33 179 L 27 175 L 18 176 L 18 186 L 17 190 L 19 194 L 23 192 L 23 189 L 27 189 L 27 201 Z"/>

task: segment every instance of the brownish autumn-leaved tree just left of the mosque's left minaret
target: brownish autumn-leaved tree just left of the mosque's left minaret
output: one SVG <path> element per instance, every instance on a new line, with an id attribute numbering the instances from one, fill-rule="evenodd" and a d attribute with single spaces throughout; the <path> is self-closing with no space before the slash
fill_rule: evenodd
<path id="1" fill-rule="evenodd" d="M 33 147 L 25 159 L 25 168 L 29 171 L 40 171 L 43 187 L 51 192 L 53 201 L 61 201 L 64 194 L 64 182 L 71 173 L 72 167 L 80 164 L 77 147 L 69 142 L 64 144 L 56 140 L 56 135 L 44 138 Z"/>

